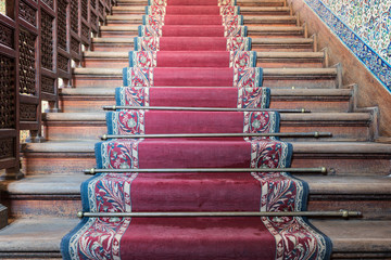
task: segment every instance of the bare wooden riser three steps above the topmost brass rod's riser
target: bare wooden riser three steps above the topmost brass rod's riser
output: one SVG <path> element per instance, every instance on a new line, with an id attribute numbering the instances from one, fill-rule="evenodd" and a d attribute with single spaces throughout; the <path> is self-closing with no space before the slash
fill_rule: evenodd
<path id="1" fill-rule="evenodd" d="M 93 43 L 93 51 L 106 51 L 106 52 L 126 52 L 129 50 L 134 50 L 133 43 L 129 44 L 116 44 L 116 43 Z M 280 44 L 253 44 L 253 51 L 278 51 L 278 52 L 312 52 L 312 44 L 289 44 L 289 46 L 280 46 Z"/>

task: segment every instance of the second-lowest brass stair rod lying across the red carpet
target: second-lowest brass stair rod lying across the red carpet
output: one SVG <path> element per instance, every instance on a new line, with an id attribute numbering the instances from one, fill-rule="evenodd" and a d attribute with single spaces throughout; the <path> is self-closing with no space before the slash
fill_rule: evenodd
<path id="1" fill-rule="evenodd" d="M 98 169 L 91 168 L 86 169 L 83 172 L 86 174 L 96 173 L 192 173 L 192 172 L 301 172 L 301 173 L 327 173 L 326 167 L 317 168 L 164 168 L 164 169 Z"/>

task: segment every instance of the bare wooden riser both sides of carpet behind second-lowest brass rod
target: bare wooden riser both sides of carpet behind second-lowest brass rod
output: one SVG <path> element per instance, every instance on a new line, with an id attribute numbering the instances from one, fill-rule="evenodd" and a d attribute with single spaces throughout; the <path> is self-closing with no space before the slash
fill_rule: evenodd
<path id="1" fill-rule="evenodd" d="M 97 140 L 98 141 L 98 140 Z M 88 144 L 86 144 L 88 145 Z M 93 147 L 90 153 L 25 153 L 23 169 L 29 176 L 49 173 L 81 174 L 81 170 L 96 166 Z M 354 151 L 352 151 L 354 153 Z M 293 153 L 292 167 L 329 169 L 330 176 L 387 176 L 391 171 L 390 155 Z"/>

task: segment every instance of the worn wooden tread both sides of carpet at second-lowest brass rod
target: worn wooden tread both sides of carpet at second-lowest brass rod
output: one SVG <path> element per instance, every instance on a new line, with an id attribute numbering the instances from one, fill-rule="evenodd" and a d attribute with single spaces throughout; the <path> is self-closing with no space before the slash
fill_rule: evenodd
<path id="1" fill-rule="evenodd" d="M 207 176 L 207 180 L 213 181 L 212 177 Z M 80 183 L 89 178 L 90 176 L 81 173 L 27 177 L 18 181 L 2 181 L 0 190 L 13 195 L 79 195 Z M 154 178 L 159 183 L 174 180 L 166 179 L 166 177 L 162 177 L 161 180 L 156 176 Z M 175 180 L 178 179 L 199 182 L 199 179 L 194 179 L 189 174 L 186 177 L 179 176 Z M 391 177 L 389 176 L 301 176 L 299 179 L 308 183 L 310 194 L 313 195 L 391 195 Z M 217 178 L 218 180 L 220 179 Z"/>

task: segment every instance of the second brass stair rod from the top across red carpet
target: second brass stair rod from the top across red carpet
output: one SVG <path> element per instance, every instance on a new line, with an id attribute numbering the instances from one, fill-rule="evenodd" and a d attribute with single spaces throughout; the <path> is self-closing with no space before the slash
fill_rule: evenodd
<path id="1" fill-rule="evenodd" d="M 103 134 L 101 140 L 108 139 L 160 139 L 160 138 L 331 138 L 330 132 L 292 132 L 292 133 L 167 133 L 167 134 Z"/>

